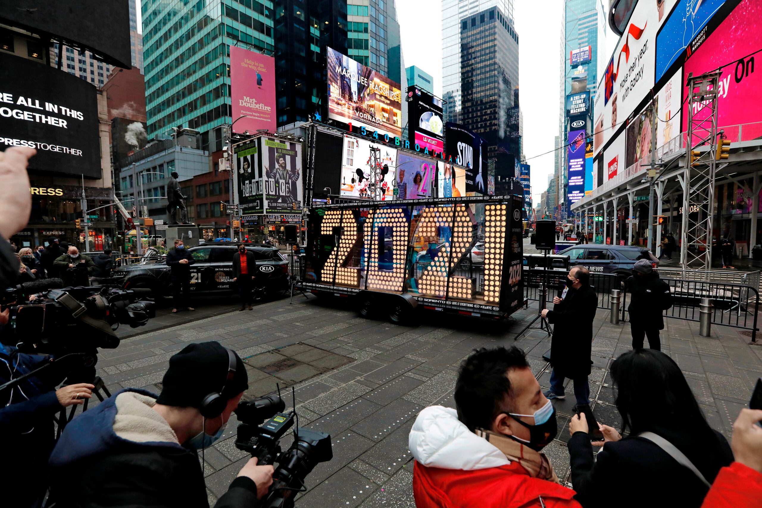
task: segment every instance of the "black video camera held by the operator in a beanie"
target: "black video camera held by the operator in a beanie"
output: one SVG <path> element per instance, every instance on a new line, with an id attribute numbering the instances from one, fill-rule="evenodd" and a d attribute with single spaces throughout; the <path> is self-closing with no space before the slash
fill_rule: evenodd
<path id="1" fill-rule="evenodd" d="M 290 508 L 297 492 L 306 490 L 304 478 L 319 462 L 333 458 L 331 436 L 324 432 L 299 429 L 296 408 L 283 413 L 286 404 L 280 395 L 269 395 L 253 401 L 243 401 L 235 410 L 239 421 L 235 447 L 257 457 L 258 465 L 278 463 L 273 484 L 260 506 Z M 294 439 L 285 452 L 280 450 L 280 438 L 297 418 Z M 267 421 L 265 421 L 267 420 Z"/>

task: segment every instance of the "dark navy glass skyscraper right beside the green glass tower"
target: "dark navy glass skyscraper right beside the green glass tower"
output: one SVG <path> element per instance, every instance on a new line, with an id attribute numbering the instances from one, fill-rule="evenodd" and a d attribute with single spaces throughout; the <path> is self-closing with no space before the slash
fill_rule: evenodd
<path id="1" fill-rule="evenodd" d="M 328 105 L 326 46 L 347 54 L 347 2 L 280 0 L 274 29 L 277 125 L 306 122 Z M 350 47 L 363 41 L 351 39 Z"/>

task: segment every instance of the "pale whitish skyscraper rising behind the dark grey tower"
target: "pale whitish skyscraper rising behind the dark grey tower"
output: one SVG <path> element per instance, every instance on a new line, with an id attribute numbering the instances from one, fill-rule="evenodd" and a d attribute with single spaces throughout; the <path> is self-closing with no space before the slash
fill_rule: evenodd
<path id="1" fill-rule="evenodd" d="M 461 20 L 488 8 L 497 7 L 507 24 L 514 24 L 513 0 L 442 0 L 442 98 L 444 117 L 447 122 L 461 122 Z M 511 58 L 500 55 L 501 59 Z M 515 54 L 518 66 L 518 50 Z M 518 81 L 516 81 L 518 85 Z"/>

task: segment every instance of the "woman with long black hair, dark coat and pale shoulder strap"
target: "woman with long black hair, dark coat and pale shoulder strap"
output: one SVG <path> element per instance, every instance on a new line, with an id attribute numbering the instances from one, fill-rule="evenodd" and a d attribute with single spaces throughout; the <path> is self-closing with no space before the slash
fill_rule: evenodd
<path id="1" fill-rule="evenodd" d="M 591 443 L 584 418 L 572 418 L 568 451 L 576 499 L 585 508 L 699 508 L 733 454 L 725 436 L 709 427 L 683 372 L 666 354 L 640 349 L 623 353 L 610 373 L 629 435 L 601 425 L 605 442 Z M 592 445 L 605 445 L 595 461 Z"/>

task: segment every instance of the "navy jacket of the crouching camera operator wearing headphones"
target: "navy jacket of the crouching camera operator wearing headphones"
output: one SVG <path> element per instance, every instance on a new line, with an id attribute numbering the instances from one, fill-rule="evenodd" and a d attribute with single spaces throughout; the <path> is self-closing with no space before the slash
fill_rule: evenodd
<path id="1" fill-rule="evenodd" d="M 137 443 L 114 433 L 116 399 L 123 391 L 156 397 L 150 391 L 126 388 L 66 426 L 50 455 L 50 491 L 56 506 L 208 508 L 194 450 L 165 441 Z M 254 481 L 236 478 L 215 506 L 255 508 L 257 504 Z"/>

